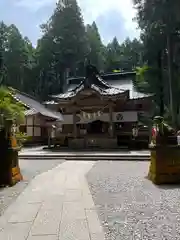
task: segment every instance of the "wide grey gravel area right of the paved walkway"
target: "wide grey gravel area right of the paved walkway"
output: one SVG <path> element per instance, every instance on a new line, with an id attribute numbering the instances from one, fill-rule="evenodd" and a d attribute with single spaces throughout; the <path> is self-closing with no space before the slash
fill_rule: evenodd
<path id="1" fill-rule="evenodd" d="M 180 239 L 180 186 L 153 185 L 147 162 L 97 162 L 87 180 L 106 240 Z"/>

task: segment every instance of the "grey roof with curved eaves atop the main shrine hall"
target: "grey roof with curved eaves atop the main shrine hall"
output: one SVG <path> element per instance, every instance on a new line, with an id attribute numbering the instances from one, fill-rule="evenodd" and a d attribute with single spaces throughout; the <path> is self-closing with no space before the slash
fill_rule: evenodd
<path id="1" fill-rule="evenodd" d="M 93 80 L 90 88 L 99 92 L 102 96 L 118 96 L 123 93 L 127 93 L 129 99 L 141 99 L 151 97 L 152 94 L 145 94 L 138 92 L 133 84 L 133 80 L 136 76 L 135 72 L 121 72 L 121 73 L 109 73 L 101 75 Z M 52 98 L 68 100 L 76 96 L 77 93 L 84 90 L 85 77 L 69 78 L 67 79 L 67 87 L 64 93 L 54 95 Z M 56 101 L 55 100 L 55 101 Z M 51 104 L 46 102 L 46 104 Z"/>

